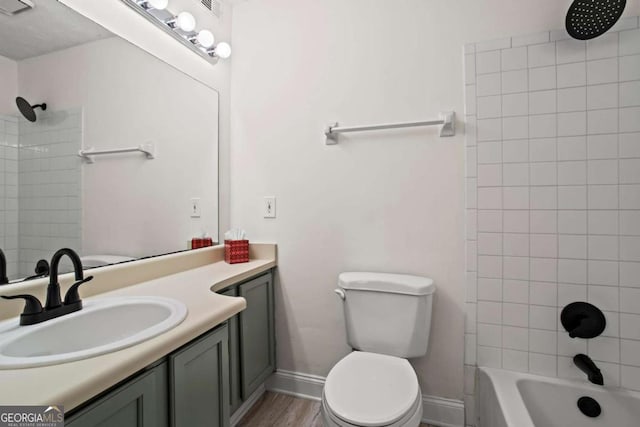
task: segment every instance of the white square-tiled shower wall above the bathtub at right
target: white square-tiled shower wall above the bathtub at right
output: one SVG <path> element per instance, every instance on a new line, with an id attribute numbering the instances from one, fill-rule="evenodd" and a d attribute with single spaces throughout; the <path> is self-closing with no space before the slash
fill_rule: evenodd
<path id="1" fill-rule="evenodd" d="M 564 31 L 465 47 L 467 423 L 475 366 L 640 390 L 640 29 Z M 589 301 L 603 336 L 571 339 L 563 306 Z"/>

